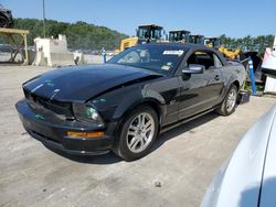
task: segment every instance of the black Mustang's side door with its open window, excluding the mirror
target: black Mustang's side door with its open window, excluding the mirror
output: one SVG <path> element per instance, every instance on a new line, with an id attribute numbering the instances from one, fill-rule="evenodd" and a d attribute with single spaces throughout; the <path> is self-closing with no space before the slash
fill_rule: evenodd
<path id="1" fill-rule="evenodd" d="M 184 119 L 195 113 L 212 108 L 223 88 L 222 73 L 214 53 L 211 51 L 195 51 L 189 55 L 184 67 L 190 64 L 203 65 L 201 74 L 182 74 L 179 76 L 179 119 Z"/>

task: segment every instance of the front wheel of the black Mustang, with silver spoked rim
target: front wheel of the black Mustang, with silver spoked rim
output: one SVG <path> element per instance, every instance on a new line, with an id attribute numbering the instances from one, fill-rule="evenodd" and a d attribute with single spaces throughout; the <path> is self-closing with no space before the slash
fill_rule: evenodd
<path id="1" fill-rule="evenodd" d="M 141 123 L 141 120 L 144 120 Z M 123 121 L 113 151 L 125 161 L 144 157 L 158 134 L 158 116 L 149 106 L 135 109 Z"/>

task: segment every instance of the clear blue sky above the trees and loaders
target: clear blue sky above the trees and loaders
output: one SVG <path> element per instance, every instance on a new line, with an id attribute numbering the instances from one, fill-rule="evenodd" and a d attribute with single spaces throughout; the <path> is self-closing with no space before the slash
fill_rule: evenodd
<path id="1" fill-rule="evenodd" d="M 231 37 L 276 34 L 276 0 L 44 0 L 46 19 L 135 35 L 139 24 Z M 43 18 L 43 0 L 0 0 L 15 18 Z"/>

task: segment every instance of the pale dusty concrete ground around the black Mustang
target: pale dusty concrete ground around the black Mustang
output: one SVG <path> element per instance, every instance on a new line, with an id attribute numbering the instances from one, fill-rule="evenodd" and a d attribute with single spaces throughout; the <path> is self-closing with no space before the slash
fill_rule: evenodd
<path id="1" fill-rule="evenodd" d="M 251 97 L 230 117 L 210 113 L 180 126 L 136 162 L 112 153 L 70 156 L 26 134 L 14 108 L 21 84 L 50 69 L 0 65 L 0 206 L 199 206 L 212 176 L 276 102 Z"/>

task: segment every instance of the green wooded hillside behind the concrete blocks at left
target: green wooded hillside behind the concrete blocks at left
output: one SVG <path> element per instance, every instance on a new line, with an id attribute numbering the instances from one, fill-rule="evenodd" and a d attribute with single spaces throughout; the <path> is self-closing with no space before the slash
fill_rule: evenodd
<path id="1" fill-rule="evenodd" d="M 14 19 L 14 28 L 29 30 L 28 44 L 33 45 L 33 40 L 43 36 L 43 21 L 36 19 Z M 65 34 L 70 48 L 115 50 L 127 35 L 105 26 L 97 26 L 86 22 L 65 23 L 55 20 L 45 21 L 46 36 L 57 37 Z"/>

